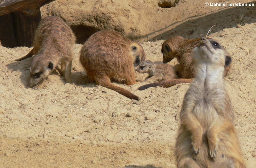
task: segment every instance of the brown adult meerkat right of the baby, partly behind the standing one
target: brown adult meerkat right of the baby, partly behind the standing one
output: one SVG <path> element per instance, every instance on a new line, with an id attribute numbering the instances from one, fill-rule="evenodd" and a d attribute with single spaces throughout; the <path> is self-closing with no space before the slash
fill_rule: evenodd
<path id="1" fill-rule="evenodd" d="M 212 39 L 206 37 L 207 39 Z M 150 87 L 162 86 L 165 88 L 171 87 L 179 83 L 191 83 L 195 78 L 195 70 L 193 67 L 193 60 L 191 57 L 192 50 L 198 46 L 198 39 L 184 39 L 180 36 L 174 36 L 164 41 L 161 52 L 163 53 L 163 63 L 170 62 L 177 58 L 179 65 L 175 66 L 175 71 L 180 79 L 170 81 L 150 83 L 139 87 L 139 90 L 144 90 Z M 223 77 L 230 73 L 231 64 L 225 66 Z"/>

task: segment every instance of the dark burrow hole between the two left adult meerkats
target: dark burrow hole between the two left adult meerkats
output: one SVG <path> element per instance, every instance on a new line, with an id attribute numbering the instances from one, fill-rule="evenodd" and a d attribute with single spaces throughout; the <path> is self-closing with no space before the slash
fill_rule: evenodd
<path id="1" fill-rule="evenodd" d="M 91 26 L 70 26 L 72 31 L 75 33 L 76 36 L 76 43 L 77 44 L 84 44 L 84 42 L 95 32 L 98 32 L 100 29 L 96 29 Z"/>

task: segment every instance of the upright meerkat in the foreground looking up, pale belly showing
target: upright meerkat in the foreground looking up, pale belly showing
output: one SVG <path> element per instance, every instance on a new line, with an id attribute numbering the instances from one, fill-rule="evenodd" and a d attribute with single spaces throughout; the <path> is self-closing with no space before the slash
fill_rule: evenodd
<path id="1" fill-rule="evenodd" d="M 214 39 L 201 38 L 192 54 L 195 79 L 184 96 L 175 144 L 177 168 L 245 168 L 234 112 L 223 80 L 231 63 Z"/>

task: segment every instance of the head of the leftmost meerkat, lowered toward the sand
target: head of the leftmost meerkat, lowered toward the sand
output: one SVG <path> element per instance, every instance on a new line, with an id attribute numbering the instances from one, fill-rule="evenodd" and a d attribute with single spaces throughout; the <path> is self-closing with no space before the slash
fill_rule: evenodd
<path id="1" fill-rule="evenodd" d="M 53 63 L 50 61 L 44 64 L 40 60 L 37 60 L 36 62 L 34 62 L 33 60 L 29 68 L 29 86 L 33 87 L 36 85 L 40 85 L 44 81 L 44 79 L 52 72 L 53 67 Z"/>

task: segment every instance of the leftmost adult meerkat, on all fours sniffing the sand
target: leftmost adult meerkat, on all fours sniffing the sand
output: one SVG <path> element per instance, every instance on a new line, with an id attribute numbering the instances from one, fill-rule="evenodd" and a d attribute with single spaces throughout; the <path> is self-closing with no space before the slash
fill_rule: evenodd
<path id="1" fill-rule="evenodd" d="M 76 38 L 71 28 L 60 17 L 44 17 L 35 32 L 34 48 L 24 60 L 35 55 L 29 68 L 29 86 L 42 85 L 44 79 L 61 63 L 60 74 L 65 76 L 66 83 L 71 83 L 71 66 L 74 57 L 73 46 Z"/>

